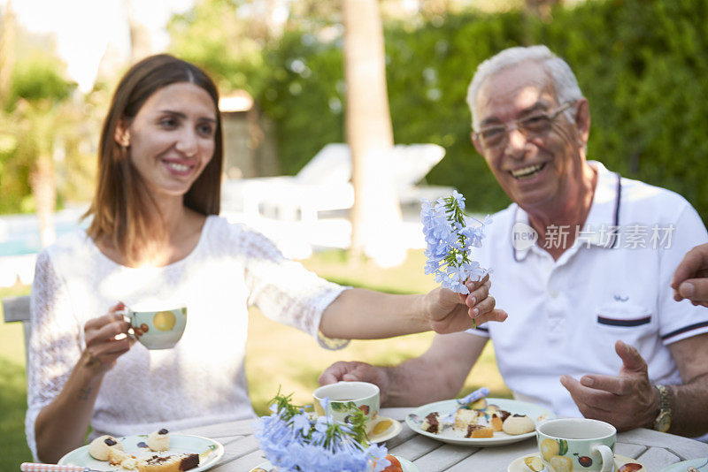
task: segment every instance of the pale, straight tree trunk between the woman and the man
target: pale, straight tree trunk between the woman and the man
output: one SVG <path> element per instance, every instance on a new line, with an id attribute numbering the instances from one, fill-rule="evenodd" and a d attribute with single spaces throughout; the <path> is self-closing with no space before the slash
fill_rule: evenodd
<path id="1" fill-rule="evenodd" d="M 342 0 L 346 134 L 351 150 L 354 207 L 351 252 L 381 265 L 405 257 L 397 244 L 401 209 L 391 181 L 393 129 L 386 88 L 381 13 L 376 0 Z"/>

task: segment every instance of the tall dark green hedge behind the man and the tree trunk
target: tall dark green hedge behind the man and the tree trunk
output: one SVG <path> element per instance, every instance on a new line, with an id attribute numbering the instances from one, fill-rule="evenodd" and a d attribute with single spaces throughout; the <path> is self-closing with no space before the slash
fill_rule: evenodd
<path id="1" fill-rule="evenodd" d="M 550 20 L 520 11 L 464 13 L 385 31 L 391 118 L 398 143 L 435 142 L 447 155 L 427 176 L 475 211 L 508 204 L 470 140 L 466 88 L 476 66 L 506 47 L 545 43 L 578 76 L 592 113 L 589 158 L 673 189 L 708 217 L 708 0 L 589 1 Z M 289 33 L 266 51 L 255 92 L 277 124 L 281 168 L 298 171 L 343 141 L 342 39 Z"/>

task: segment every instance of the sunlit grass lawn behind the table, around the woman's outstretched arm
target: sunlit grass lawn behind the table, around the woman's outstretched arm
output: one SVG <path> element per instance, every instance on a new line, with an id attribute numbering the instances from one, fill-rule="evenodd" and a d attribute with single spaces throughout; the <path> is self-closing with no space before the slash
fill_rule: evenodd
<path id="1" fill-rule="evenodd" d="M 422 251 L 409 252 L 406 262 L 396 268 L 381 270 L 373 263 L 347 263 L 342 252 L 327 252 L 304 261 L 320 276 L 343 285 L 374 288 L 391 293 L 420 293 L 435 286 L 433 278 L 423 274 Z M 0 290 L 0 296 L 27 293 L 27 287 Z M 258 414 L 265 414 L 267 402 L 281 387 L 293 393 L 293 400 L 312 402 L 312 391 L 323 369 L 336 361 L 364 361 L 395 364 L 422 354 L 433 337 L 431 333 L 413 334 L 394 339 L 352 341 L 341 351 L 327 351 L 301 331 L 277 324 L 250 309 L 246 377 L 250 399 Z M 0 324 L 0 470 L 19 470 L 30 461 L 25 442 L 24 416 L 27 408 L 25 354 L 19 324 Z M 494 352 L 489 344 L 467 377 L 462 393 L 487 386 L 493 396 L 509 397 L 511 392 L 496 369 Z"/>

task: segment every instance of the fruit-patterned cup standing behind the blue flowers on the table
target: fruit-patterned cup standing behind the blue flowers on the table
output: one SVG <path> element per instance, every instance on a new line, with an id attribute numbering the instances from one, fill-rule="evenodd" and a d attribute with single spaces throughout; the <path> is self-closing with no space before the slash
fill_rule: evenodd
<path id="1" fill-rule="evenodd" d="M 329 399 L 326 403 L 324 400 Z M 332 416 L 335 421 L 346 423 L 356 410 L 366 415 L 366 430 L 371 432 L 379 414 L 379 387 L 368 382 L 337 382 L 319 387 L 312 393 L 315 413 Z M 327 404 L 327 411 L 323 405 Z"/>

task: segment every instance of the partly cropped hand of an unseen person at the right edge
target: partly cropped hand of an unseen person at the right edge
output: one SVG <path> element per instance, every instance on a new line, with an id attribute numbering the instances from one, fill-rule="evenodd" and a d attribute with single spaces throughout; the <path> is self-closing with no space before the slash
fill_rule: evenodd
<path id="1" fill-rule="evenodd" d="M 696 246 L 684 257 L 671 281 L 673 300 L 689 299 L 708 307 L 708 243 Z"/>

